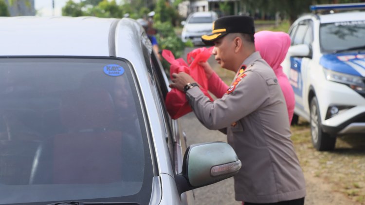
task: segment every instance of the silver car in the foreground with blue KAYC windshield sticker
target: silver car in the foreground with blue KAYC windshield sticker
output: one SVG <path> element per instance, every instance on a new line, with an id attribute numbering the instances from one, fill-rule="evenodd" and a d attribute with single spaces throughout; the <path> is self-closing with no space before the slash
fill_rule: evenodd
<path id="1" fill-rule="evenodd" d="M 187 204 L 192 189 L 238 172 L 226 143 L 186 148 L 135 20 L 0 25 L 0 204 Z"/>

